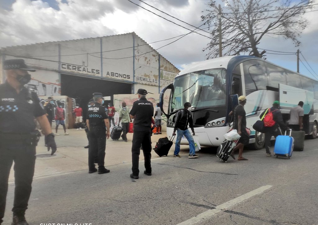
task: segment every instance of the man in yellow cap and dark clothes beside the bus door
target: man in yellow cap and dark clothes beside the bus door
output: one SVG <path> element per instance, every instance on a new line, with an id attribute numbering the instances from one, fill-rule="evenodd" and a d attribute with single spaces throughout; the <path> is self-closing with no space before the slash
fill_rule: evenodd
<path id="1" fill-rule="evenodd" d="M 239 96 L 239 105 L 237 105 L 233 110 L 233 129 L 238 131 L 241 136 L 236 146 L 232 151 L 232 158 L 234 157 L 234 151 L 239 149 L 238 160 L 248 160 L 243 157 L 243 149 L 245 145 L 248 145 L 250 141 L 250 135 L 246 131 L 246 112 L 244 105 L 246 104 L 246 97 L 244 95 Z"/>

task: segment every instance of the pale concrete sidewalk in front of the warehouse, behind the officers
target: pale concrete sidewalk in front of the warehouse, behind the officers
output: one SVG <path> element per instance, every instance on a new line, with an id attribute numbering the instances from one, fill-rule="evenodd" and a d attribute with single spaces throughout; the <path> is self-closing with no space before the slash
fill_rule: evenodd
<path id="1" fill-rule="evenodd" d="M 37 146 L 37 159 L 35 163 L 34 179 L 46 176 L 54 176 L 61 173 L 69 173 L 79 170 L 87 170 L 88 172 L 88 149 L 84 146 L 88 144 L 86 133 L 83 130 L 66 130 L 69 135 L 65 136 L 64 131 L 59 130 L 59 136 L 55 136 L 57 144 L 57 151 L 51 156 L 51 150 L 48 152 L 44 146 L 44 137 L 40 138 Z M 152 148 L 155 147 L 156 142 L 161 137 L 166 137 L 166 133 L 152 135 Z M 128 142 L 123 140 L 113 141 L 109 138 L 106 141 L 106 156 L 105 167 L 109 165 L 116 165 L 122 163 L 130 163 L 131 160 L 131 141 L 132 133 L 127 134 Z M 182 146 L 182 145 L 181 145 Z M 184 148 L 189 149 L 187 145 Z M 169 155 L 173 155 L 175 145 L 172 145 Z M 159 156 L 152 151 L 151 158 L 159 158 Z M 143 154 L 140 154 L 140 160 L 143 160 Z M 13 166 L 11 168 L 9 182 L 14 181 Z"/>

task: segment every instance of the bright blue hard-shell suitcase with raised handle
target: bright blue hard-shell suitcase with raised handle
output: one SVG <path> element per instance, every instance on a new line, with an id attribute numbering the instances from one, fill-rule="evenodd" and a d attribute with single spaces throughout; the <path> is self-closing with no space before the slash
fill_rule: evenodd
<path id="1" fill-rule="evenodd" d="M 292 130 L 289 130 L 289 136 L 279 135 L 276 137 L 276 142 L 274 146 L 274 156 L 278 158 L 279 156 L 290 158 L 293 154 L 294 149 L 294 138 L 291 137 Z"/>

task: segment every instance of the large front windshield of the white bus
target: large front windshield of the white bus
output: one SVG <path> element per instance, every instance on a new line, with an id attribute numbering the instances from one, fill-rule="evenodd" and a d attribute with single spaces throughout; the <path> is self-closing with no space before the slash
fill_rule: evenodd
<path id="1" fill-rule="evenodd" d="M 176 77 L 171 99 L 171 112 L 183 109 L 185 102 L 192 107 L 223 106 L 226 102 L 226 69 L 207 69 Z"/>

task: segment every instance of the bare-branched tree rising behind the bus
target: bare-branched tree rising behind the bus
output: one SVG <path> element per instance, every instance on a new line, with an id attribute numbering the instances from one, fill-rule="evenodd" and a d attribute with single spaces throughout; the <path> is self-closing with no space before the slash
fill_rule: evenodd
<path id="1" fill-rule="evenodd" d="M 250 55 L 261 58 L 266 51 L 259 52 L 258 45 L 264 36 L 283 36 L 291 39 L 295 46 L 301 42 L 299 37 L 307 25 L 303 18 L 306 10 L 312 8 L 312 0 L 222 0 L 225 4 L 222 10 L 222 52 L 224 55 L 239 55 L 249 52 Z M 280 4 L 281 3 L 281 4 Z M 210 9 L 201 16 L 202 21 L 214 28 L 211 30 L 211 41 L 206 48 L 209 53 L 206 58 L 218 57 L 218 20 L 212 20 L 218 15 L 218 4 L 210 0 Z M 214 21 L 214 22 L 212 22 Z"/>

